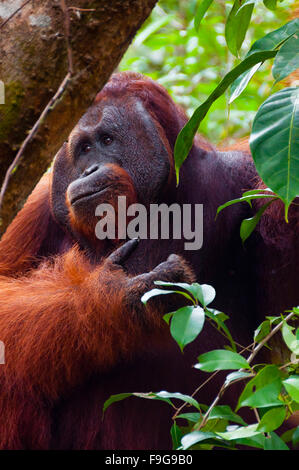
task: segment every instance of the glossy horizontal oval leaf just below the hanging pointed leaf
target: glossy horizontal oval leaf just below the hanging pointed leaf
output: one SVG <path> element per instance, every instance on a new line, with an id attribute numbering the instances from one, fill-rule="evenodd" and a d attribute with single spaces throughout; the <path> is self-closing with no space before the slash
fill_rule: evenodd
<path id="1" fill-rule="evenodd" d="M 214 351 L 201 354 L 198 358 L 198 364 L 195 364 L 194 367 L 206 372 L 214 372 L 215 370 L 250 368 L 244 357 L 233 351 L 227 351 L 225 349 L 215 349 Z"/>

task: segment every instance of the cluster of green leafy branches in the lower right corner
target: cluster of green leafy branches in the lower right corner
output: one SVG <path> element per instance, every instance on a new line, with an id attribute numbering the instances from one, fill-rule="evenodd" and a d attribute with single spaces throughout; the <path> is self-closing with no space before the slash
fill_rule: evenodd
<path id="1" fill-rule="evenodd" d="M 167 323 L 171 322 L 170 332 L 181 350 L 198 337 L 205 320 L 215 328 L 222 329 L 227 339 L 233 342 L 234 351 L 223 349 L 201 354 L 194 367 L 213 374 L 221 370 L 235 370 L 236 372 L 231 372 L 226 376 L 210 407 L 198 402 L 193 395 L 161 391 L 113 395 L 104 404 L 104 411 L 112 403 L 129 396 L 164 401 L 175 410 L 174 423 L 171 427 L 174 449 L 212 449 L 214 447 L 235 449 L 246 445 L 264 450 L 288 450 L 290 445 L 296 446 L 299 440 L 298 427 L 288 431 L 282 437 L 275 431 L 280 428 L 286 418 L 299 409 L 299 376 L 295 372 L 299 363 L 299 335 L 297 336 L 297 332 L 296 335 L 293 333 L 294 327 L 291 325 L 294 318 L 299 316 L 299 308 L 295 307 L 287 312 L 287 315 L 268 317 L 256 330 L 255 341 L 252 345 L 236 352 L 239 346 L 233 341 L 227 327 L 222 326 L 228 317 L 221 314 L 222 320 L 218 323 L 210 315 L 211 311 L 207 305 L 215 296 L 215 291 L 211 286 L 201 286 L 197 283 L 189 285 L 158 282 L 158 284 L 164 286 L 165 292 L 175 291 L 184 295 L 188 291 L 192 295 L 193 305 L 180 308 L 165 319 Z M 177 290 L 178 287 L 181 291 Z M 156 291 L 157 289 L 152 289 L 146 294 L 146 302 L 156 295 Z M 220 314 L 220 312 L 217 313 Z M 274 334 L 280 332 L 284 344 L 290 351 L 287 363 L 253 364 L 253 359 L 261 347 L 265 346 Z M 250 354 L 245 357 L 248 351 Z M 228 405 L 218 405 L 224 391 L 238 381 L 247 381 L 247 383 L 239 396 L 236 409 L 232 410 Z M 183 405 L 176 405 L 173 399 L 183 402 Z M 186 406 L 197 411 L 181 413 Z M 239 410 L 244 407 L 255 410 L 256 423 L 247 424 L 239 415 Z M 185 420 L 186 426 L 180 426 L 176 421 L 178 419 Z"/>

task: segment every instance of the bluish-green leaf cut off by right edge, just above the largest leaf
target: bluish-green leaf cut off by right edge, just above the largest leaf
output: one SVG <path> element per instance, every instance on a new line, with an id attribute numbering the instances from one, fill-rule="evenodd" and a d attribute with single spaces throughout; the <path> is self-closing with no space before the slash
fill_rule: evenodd
<path id="1" fill-rule="evenodd" d="M 272 74 L 275 82 L 283 80 L 299 68 L 299 30 L 279 49 L 275 57 Z"/>

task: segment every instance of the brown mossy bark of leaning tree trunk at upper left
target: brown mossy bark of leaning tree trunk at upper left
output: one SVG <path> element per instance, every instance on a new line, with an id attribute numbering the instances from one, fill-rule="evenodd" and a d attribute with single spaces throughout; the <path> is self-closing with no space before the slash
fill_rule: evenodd
<path id="1" fill-rule="evenodd" d="M 156 1 L 66 0 L 66 15 L 60 0 L 31 0 L 4 25 L 24 1 L 0 2 L 0 79 L 5 85 L 5 104 L 0 104 L 0 185 L 28 132 L 66 76 L 70 51 L 73 56 L 73 74 L 66 91 L 11 175 L 1 207 L 0 234 L 109 79 Z M 70 20 L 69 47 L 66 17 Z"/>

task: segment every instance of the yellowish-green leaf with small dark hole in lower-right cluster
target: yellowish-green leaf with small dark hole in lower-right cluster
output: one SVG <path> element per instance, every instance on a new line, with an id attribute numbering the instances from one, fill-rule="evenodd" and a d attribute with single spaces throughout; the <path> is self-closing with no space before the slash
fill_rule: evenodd
<path id="1" fill-rule="evenodd" d="M 254 408 L 281 406 L 283 403 L 278 399 L 281 387 L 279 369 L 275 365 L 263 367 L 245 386 L 239 397 L 237 410 L 242 406 Z"/>

